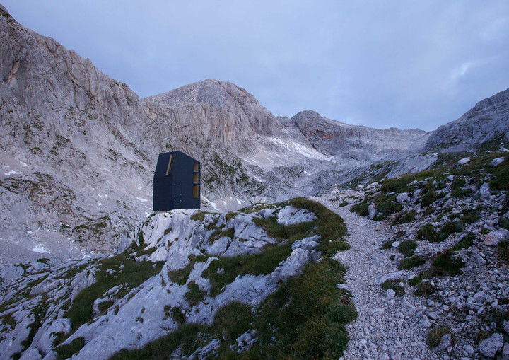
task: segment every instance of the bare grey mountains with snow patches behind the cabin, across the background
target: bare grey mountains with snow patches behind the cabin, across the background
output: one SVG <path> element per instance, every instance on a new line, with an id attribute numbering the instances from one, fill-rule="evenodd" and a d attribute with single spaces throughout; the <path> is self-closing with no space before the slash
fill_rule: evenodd
<path id="1" fill-rule="evenodd" d="M 390 161 L 390 176 L 423 170 L 437 149 L 509 137 L 508 91 L 433 133 L 380 130 L 312 110 L 276 117 L 214 79 L 140 99 L 2 6 L 0 37 L 0 262 L 115 248 L 151 213 L 165 151 L 201 161 L 204 207 L 226 211 L 327 192 L 377 163 Z"/>

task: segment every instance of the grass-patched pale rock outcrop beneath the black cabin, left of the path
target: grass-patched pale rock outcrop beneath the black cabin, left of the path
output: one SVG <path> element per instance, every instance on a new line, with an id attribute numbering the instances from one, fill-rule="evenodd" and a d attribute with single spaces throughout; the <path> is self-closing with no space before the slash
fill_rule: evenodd
<path id="1" fill-rule="evenodd" d="M 156 214 L 119 255 L 36 262 L 6 285 L 0 358 L 337 358 L 356 316 L 331 257 L 345 233 L 305 199 Z"/>

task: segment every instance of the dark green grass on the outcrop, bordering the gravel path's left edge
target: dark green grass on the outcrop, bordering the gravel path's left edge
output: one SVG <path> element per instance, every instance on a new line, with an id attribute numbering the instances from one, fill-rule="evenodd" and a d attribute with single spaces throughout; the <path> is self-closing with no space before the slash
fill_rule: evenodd
<path id="1" fill-rule="evenodd" d="M 269 274 L 290 255 L 293 241 L 305 236 L 322 236 L 318 247 L 322 251 L 320 262 L 309 262 L 303 274 L 281 283 L 274 294 L 254 309 L 242 303 L 230 303 L 218 310 L 212 325 L 182 324 L 177 331 L 143 349 L 122 350 L 112 359 L 168 359 L 177 348 L 182 356 L 189 356 L 211 339 L 221 342 L 217 350 L 221 359 L 337 359 L 341 356 L 348 342 L 344 325 L 357 315 L 349 294 L 336 286 L 344 283 L 346 269 L 331 258 L 337 249 L 348 246 L 343 238 L 346 226 L 337 214 L 317 202 L 292 199 L 288 204 L 312 211 L 317 221 L 281 226 L 273 218 L 258 220 L 270 236 L 283 242 L 268 245 L 257 254 L 219 257 L 211 262 L 203 273 L 211 281 L 211 295 L 218 294 L 238 275 Z M 223 270 L 218 273 L 219 269 Z M 197 287 L 194 285 L 189 282 L 189 289 Z M 175 319 L 181 314 L 180 309 L 165 310 Z M 181 317 L 180 322 L 183 320 Z M 257 342 L 246 352 L 235 353 L 236 339 L 250 330 L 256 332 Z"/>

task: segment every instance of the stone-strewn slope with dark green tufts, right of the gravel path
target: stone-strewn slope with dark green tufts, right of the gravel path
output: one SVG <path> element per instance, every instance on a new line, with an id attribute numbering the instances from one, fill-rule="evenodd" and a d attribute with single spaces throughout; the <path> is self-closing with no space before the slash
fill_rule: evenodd
<path id="1" fill-rule="evenodd" d="M 411 337 L 426 334 L 426 344 L 416 343 L 413 352 L 427 345 L 439 359 L 505 359 L 509 156 L 505 152 L 463 156 L 443 154 L 435 168 L 387 180 L 368 191 L 341 192 L 332 202 L 353 204 L 351 211 L 369 216 L 373 226 L 378 223 L 388 233 L 376 241 L 376 255 L 359 262 L 364 262 L 362 267 L 379 262 L 392 267 L 380 276 L 378 291 L 384 289 L 383 296 L 394 303 L 391 311 L 402 313 L 396 321 L 414 323 Z M 348 264 L 344 256 L 347 252 L 338 259 Z M 349 290 L 356 306 L 363 303 L 355 296 L 363 289 Z M 360 306 L 358 310 L 363 312 Z M 394 317 L 384 318 L 387 321 L 376 324 L 370 334 L 392 326 Z M 364 323 L 356 328 L 373 327 L 368 316 L 359 319 Z M 399 342 L 406 342 L 404 338 Z M 375 347 L 380 350 L 378 343 Z"/>

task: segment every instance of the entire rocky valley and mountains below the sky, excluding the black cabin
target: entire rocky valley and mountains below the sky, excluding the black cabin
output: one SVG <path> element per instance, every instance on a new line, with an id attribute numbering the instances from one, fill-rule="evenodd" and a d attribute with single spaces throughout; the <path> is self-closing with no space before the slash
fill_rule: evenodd
<path id="1" fill-rule="evenodd" d="M 382 130 L 215 79 L 139 98 L 1 5 L 0 40 L 0 359 L 509 359 L 509 89 Z M 201 211 L 153 214 L 173 150 Z"/>

